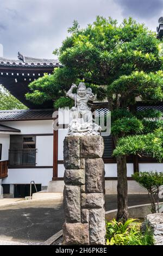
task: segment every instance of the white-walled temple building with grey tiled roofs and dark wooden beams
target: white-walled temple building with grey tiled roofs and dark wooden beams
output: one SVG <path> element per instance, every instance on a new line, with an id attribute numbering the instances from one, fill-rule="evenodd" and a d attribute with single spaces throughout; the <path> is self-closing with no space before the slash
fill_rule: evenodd
<path id="1" fill-rule="evenodd" d="M 39 59 L 18 53 L 17 59 L 0 57 L 0 84 L 29 109 L 0 111 L 0 185 L 12 197 L 29 196 L 30 182 L 38 191 L 62 192 L 64 188 L 63 141 L 66 128 L 53 131 L 53 103 L 35 105 L 27 101 L 28 84 L 52 74 L 61 66 L 57 59 Z M 155 108 L 163 112 L 163 105 L 148 106 L 137 102 L 137 109 Z M 96 115 L 108 109 L 96 109 Z M 112 157 L 114 142 L 104 137 L 105 191 L 117 192 L 116 159 Z M 131 178 L 134 172 L 163 171 L 163 163 L 149 157 L 127 157 L 128 193 L 145 193 Z"/>

